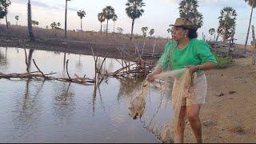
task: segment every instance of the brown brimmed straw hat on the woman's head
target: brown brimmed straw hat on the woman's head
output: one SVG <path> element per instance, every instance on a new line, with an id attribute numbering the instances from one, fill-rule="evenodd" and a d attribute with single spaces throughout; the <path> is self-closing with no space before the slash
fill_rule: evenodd
<path id="1" fill-rule="evenodd" d="M 170 26 L 181 26 L 187 29 L 198 30 L 198 27 L 194 26 L 189 18 L 177 18 L 175 23 L 173 25 L 171 24 Z"/>

